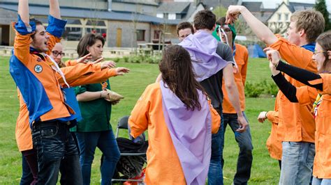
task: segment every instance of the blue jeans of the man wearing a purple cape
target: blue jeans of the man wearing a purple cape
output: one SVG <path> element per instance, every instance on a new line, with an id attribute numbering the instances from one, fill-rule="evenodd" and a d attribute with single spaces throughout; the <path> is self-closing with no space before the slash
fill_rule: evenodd
<path id="1" fill-rule="evenodd" d="M 219 127 L 219 131 L 216 134 L 212 134 L 212 156 L 208 171 L 209 185 L 223 185 L 223 170 L 221 166 L 221 159 L 223 158 L 223 116 L 218 109 L 216 111 L 221 115 L 221 127 Z"/>

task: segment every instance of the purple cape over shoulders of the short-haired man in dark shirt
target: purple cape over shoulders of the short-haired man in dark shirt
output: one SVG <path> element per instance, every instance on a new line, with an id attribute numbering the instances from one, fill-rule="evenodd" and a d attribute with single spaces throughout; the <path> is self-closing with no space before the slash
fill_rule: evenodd
<path id="1" fill-rule="evenodd" d="M 179 43 L 191 56 L 197 81 L 203 81 L 226 67 L 227 61 L 216 54 L 217 40 L 212 34 L 200 30 Z"/>

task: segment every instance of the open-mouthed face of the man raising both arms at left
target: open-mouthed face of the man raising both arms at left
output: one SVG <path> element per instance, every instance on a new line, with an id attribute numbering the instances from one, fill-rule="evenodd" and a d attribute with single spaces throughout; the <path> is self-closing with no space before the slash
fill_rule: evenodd
<path id="1" fill-rule="evenodd" d="M 44 26 L 38 24 L 36 26 L 36 34 L 32 38 L 31 47 L 41 52 L 48 51 L 47 42 L 49 38 L 50 36 L 46 34 Z"/>

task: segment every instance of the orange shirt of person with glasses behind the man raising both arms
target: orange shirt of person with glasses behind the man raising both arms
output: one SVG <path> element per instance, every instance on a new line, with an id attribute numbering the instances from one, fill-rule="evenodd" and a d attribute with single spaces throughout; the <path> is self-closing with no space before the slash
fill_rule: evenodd
<path id="1" fill-rule="evenodd" d="M 76 61 L 68 61 L 68 63 L 72 63 L 73 65 L 76 65 Z M 73 73 L 79 73 L 80 69 L 82 68 L 90 68 L 89 65 L 85 64 L 79 64 L 75 67 L 62 67 L 61 70 L 64 72 L 64 75 L 66 75 L 68 72 Z M 100 64 L 99 64 L 100 65 Z M 99 65 L 95 65 L 98 67 Z M 100 67 L 100 66 L 99 66 Z M 101 81 L 105 81 L 109 77 L 115 76 L 116 72 L 115 69 L 104 69 L 104 70 L 93 70 L 91 69 L 91 74 L 79 76 L 78 79 L 75 79 L 74 81 L 68 81 L 70 86 L 79 86 L 83 84 L 89 84 L 89 83 L 99 83 Z M 57 79 L 60 80 L 62 77 L 58 73 L 56 73 Z M 64 85 L 64 82 L 60 83 L 61 86 Z M 29 111 L 27 109 L 27 104 L 25 104 L 22 95 L 20 93 L 20 90 L 17 88 L 17 97 L 20 99 L 20 113 L 18 115 L 17 121 L 16 121 L 16 127 L 15 127 L 15 138 L 17 147 L 20 150 L 20 152 L 25 150 L 31 150 L 33 148 L 32 145 L 32 136 L 31 136 L 31 129 L 29 126 Z"/>

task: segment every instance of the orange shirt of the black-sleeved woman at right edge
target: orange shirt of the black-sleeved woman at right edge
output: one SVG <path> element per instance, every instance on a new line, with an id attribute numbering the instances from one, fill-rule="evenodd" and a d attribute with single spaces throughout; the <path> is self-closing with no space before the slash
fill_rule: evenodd
<path id="1" fill-rule="evenodd" d="M 315 159 L 313 175 L 331 179 L 331 74 L 320 74 L 323 91 L 319 92 L 322 102 L 318 106 L 315 132 Z"/>

